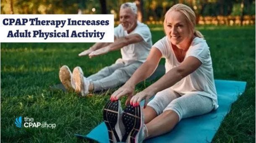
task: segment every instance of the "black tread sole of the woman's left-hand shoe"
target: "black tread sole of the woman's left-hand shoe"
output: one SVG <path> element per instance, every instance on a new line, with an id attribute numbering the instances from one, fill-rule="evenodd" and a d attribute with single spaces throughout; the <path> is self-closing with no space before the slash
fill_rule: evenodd
<path id="1" fill-rule="evenodd" d="M 107 125 L 108 137 L 109 137 L 110 143 L 120 142 L 118 134 L 115 130 L 115 125 L 118 123 L 118 118 L 120 118 L 118 115 L 119 106 L 120 106 L 119 100 L 114 102 L 109 101 L 107 105 L 104 107 L 104 111 L 103 111 L 103 118 L 104 118 L 105 124 Z"/>

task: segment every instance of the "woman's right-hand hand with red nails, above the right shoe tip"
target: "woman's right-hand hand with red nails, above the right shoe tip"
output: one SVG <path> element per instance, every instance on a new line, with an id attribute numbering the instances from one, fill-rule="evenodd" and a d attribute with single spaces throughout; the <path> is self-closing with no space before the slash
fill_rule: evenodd
<path id="1" fill-rule="evenodd" d="M 130 100 L 130 104 L 133 106 L 138 106 L 141 100 L 145 99 L 144 108 L 146 108 L 146 105 L 149 103 L 149 98 L 151 98 L 153 95 L 155 95 L 155 93 L 146 88 L 145 90 L 134 95 Z"/>

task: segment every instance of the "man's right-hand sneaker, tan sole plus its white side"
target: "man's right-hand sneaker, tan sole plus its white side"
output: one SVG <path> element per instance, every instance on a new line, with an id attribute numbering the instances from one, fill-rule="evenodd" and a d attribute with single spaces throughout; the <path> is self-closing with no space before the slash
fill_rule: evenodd
<path id="1" fill-rule="evenodd" d="M 84 73 L 80 67 L 76 67 L 73 70 L 73 80 L 75 83 L 75 91 L 81 96 L 86 96 L 89 94 L 89 80 L 84 78 Z"/>

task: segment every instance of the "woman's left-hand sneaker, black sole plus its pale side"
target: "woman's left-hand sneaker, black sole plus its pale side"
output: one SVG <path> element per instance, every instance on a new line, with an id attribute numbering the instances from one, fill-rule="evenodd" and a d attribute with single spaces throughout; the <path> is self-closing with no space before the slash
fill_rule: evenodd
<path id="1" fill-rule="evenodd" d="M 122 108 L 120 100 L 109 101 L 103 111 L 104 122 L 107 126 L 110 143 L 118 143 L 122 139 Z"/>

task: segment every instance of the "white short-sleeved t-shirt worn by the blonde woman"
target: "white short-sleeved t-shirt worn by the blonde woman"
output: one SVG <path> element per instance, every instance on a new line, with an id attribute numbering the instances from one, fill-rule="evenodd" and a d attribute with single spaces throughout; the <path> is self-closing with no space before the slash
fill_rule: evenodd
<path id="1" fill-rule="evenodd" d="M 181 64 L 177 60 L 167 36 L 157 41 L 153 47 L 159 49 L 162 53 L 162 57 L 165 58 L 165 73 Z M 188 48 L 185 55 L 185 59 L 189 56 L 199 59 L 202 65 L 170 88 L 178 93 L 187 94 L 196 92 L 199 95 L 212 98 L 214 101 L 214 109 L 217 109 L 219 105 L 214 83 L 212 58 L 209 47 L 203 38 L 196 37 L 193 39 L 191 46 Z"/>

